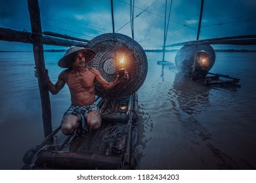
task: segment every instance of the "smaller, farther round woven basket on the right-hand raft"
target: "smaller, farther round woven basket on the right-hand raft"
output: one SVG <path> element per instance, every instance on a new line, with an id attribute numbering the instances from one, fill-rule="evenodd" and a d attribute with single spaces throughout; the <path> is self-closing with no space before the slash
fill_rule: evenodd
<path id="1" fill-rule="evenodd" d="M 182 71 L 182 73 L 191 75 L 194 59 L 196 59 L 196 55 L 200 51 L 205 51 L 209 54 L 209 71 L 215 63 L 215 51 L 209 44 L 193 44 L 182 46 L 175 56 L 175 65 L 180 71 Z"/>

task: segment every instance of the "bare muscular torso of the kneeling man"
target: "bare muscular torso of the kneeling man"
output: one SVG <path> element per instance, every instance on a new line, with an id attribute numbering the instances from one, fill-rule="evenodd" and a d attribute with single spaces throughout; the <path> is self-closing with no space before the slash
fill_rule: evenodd
<path id="1" fill-rule="evenodd" d="M 66 69 L 60 75 L 70 88 L 73 105 L 85 106 L 95 102 L 95 72 L 92 68 L 84 67 L 80 71 Z"/>

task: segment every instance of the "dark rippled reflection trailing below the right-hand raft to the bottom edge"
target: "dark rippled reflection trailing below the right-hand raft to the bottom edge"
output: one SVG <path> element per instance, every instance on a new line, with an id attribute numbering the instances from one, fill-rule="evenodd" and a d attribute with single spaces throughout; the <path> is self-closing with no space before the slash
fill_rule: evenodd
<path id="1" fill-rule="evenodd" d="M 198 114 L 207 111 L 211 106 L 209 93 L 211 88 L 205 87 L 200 83 L 190 80 L 181 73 L 175 75 L 173 88 L 169 90 L 169 100 L 184 128 L 184 136 L 194 146 L 200 145 L 203 151 L 207 149 L 213 154 L 209 161 L 210 169 L 213 165 L 216 169 L 239 169 L 237 163 L 226 155 L 222 150 L 214 145 L 211 141 L 211 133 L 205 127 L 205 122 L 198 121 Z M 191 156 L 188 154 L 188 156 Z M 217 159 L 215 159 L 217 158 Z M 202 163 L 206 161 L 201 157 Z M 208 169 L 207 166 L 205 169 Z"/>

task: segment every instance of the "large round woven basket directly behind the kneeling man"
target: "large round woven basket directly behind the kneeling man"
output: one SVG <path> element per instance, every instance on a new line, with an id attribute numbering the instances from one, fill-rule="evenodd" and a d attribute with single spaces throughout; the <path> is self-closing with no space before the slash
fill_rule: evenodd
<path id="1" fill-rule="evenodd" d="M 143 48 L 136 41 L 119 33 L 106 33 L 88 42 L 86 48 L 96 52 L 95 58 L 86 66 L 98 69 L 108 82 L 116 79 L 121 67 L 129 74 L 129 80 L 121 82 L 113 90 L 105 90 L 95 82 L 96 95 L 107 98 L 129 96 L 142 86 L 148 72 L 148 61 Z"/>

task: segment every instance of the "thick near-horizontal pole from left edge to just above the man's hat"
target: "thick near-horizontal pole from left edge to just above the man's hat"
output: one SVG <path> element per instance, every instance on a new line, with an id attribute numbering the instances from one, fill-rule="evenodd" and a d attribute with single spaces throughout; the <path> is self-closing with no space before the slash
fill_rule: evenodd
<path id="1" fill-rule="evenodd" d="M 41 36 L 43 39 L 43 44 L 47 44 L 47 45 L 85 47 L 85 45 L 87 44 L 87 43 L 85 43 L 85 40 L 83 40 L 84 42 L 70 41 L 70 40 L 57 39 L 54 37 L 44 36 L 39 33 L 35 34 L 35 33 L 30 33 L 28 31 L 16 31 L 13 29 L 6 29 L 6 28 L 0 27 L 0 40 L 1 41 L 39 44 L 39 42 L 36 42 L 38 40 L 37 39 L 38 36 Z"/>

